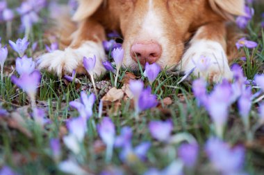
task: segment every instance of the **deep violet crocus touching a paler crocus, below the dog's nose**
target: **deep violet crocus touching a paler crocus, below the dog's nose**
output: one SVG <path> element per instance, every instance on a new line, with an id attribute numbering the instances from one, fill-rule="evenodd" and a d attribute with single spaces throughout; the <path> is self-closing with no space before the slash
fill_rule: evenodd
<path id="1" fill-rule="evenodd" d="M 157 96 L 151 94 L 151 88 L 147 87 L 144 89 L 138 99 L 138 109 L 139 111 L 145 111 L 151 109 L 158 105 Z"/>

